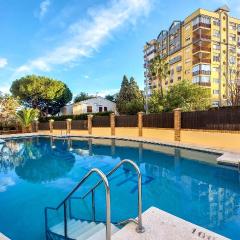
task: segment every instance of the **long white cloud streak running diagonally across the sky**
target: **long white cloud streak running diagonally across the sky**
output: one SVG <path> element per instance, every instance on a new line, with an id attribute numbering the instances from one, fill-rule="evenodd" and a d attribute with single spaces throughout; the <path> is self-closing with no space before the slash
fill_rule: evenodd
<path id="1" fill-rule="evenodd" d="M 50 71 L 54 65 L 71 64 L 82 57 L 91 56 L 112 32 L 124 23 L 134 24 L 151 9 L 153 0 L 112 0 L 108 6 L 88 10 L 88 17 L 68 27 L 67 40 L 40 56 L 20 66 L 17 73 L 33 70 Z"/>

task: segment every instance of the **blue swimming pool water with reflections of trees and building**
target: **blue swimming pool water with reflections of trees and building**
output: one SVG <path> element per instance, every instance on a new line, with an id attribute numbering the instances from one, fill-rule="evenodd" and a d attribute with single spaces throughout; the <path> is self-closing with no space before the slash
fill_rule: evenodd
<path id="1" fill-rule="evenodd" d="M 91 168 L 106 173 L 128 158 L 143 174 L 143 210 L 155 206 L 231 239 L 240 239 L 240 176 L 237 169 L 216 165 L 216 157 L 120 140 L 8 140 L 5 147 L 0 146 L 0 232 L 13 240 L 44 239 L 46 206 L 59 204 Z M 86 182 L 78 194 L 86 192 L 95 180 Z M 122 168 L 110 178 L 110 186 L 112 220 L 136 217 L 134 172 Z M 101 192 L 100 187 L 96 192 L 96 215 L 104 219 Z M 88 208 L 89 201 L 76 204 L 76 214 L 87 218 L 87 210 L 82 209 Z"/>

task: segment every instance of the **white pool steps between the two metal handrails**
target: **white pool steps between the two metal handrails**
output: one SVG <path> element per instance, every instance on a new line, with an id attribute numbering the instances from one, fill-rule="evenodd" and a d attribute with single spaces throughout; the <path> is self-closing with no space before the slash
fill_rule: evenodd
<path id="1" fill-rule="evenodd" d="M 68 238 L 76 240 L 105 240 L 106 239 L 106 225 L 103 223 L 86 222 L 80 220 L 68 221 Z M 119 229 L 111 224 L 112 234 L 116 233 Z M 64 223 L 61 222 L 50 228 L 50 232 L 60 236 L 64 235 Z M 56 239 L 56 238 L 54 238 Z"/>

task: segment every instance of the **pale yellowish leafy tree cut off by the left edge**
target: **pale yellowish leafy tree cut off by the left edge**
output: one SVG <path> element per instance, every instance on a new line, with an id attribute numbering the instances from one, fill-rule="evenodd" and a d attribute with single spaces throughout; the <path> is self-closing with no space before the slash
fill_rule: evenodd
<path id="1" fill-rule="evenodd" d="M 0 94 L 0 128 L 16 127 L 16 111 L 18 107 L 18 99 L 10 95 Z"/>

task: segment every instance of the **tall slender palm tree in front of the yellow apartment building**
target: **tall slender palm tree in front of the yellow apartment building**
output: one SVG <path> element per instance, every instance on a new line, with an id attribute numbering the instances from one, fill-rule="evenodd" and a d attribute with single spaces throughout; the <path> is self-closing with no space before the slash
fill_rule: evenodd
<path id="1" fill-rule="evenodd" d="M 163 97 L 163 81 L 170 74 L 169 63 L 160 58 L 160 56 L 155 57 L 150 63 L 150 73 L 159 80 L 160 94 Z"/>

